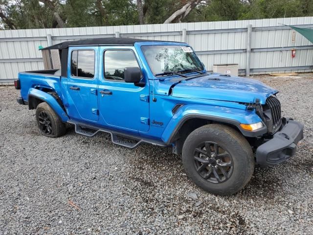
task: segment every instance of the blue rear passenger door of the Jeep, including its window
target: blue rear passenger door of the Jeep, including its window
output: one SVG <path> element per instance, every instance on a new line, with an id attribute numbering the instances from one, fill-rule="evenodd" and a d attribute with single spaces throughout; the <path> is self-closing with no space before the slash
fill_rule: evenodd
<path id="1" fill-rule="evenodd" d="M 98 47 L 71 47 L 67 67 L 67 112 L 70 118 L 97 121 Z"/>

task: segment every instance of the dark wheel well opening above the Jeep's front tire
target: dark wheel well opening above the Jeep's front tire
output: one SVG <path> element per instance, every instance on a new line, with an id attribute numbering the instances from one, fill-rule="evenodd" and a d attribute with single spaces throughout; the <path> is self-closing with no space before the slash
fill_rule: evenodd
<path id="1" fill-rule="evenodd" d="M 173 143 L 175 143 L 173 152 L 175 154 L 181 154 L 182 146 L 186 138 L 189 136 L 191 132 L 193 132 L 194 130 L 196 130 L 197 128 L 201 126 L 204 126 L 207 124 L 213 124 L 213 123 L 223 124 L 240 132 L 239 128 L 236 125 L 231 124 L 231 123 L 204 119 L 204 118 L 191 118 L 191 119 L 186 120 L 182 124 L 182 126 L 179 128 L 179 131 L 174 135 L 174 138 L 172 141 Z"/>

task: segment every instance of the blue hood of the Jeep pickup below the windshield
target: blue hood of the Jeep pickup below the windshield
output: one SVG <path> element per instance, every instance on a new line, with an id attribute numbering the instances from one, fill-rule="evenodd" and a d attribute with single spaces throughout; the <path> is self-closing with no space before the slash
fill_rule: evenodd
<path id="1" fill-rule="evenodd" d="M 168 80 L 172 83 L 173 96 L 244 103 L 255 102 L 259 99 L 261 104 L 265 104 L 268 96 L 278 93 L 277 90 L 257 80 L 225 76 L 219 73 L 186 79 L 176 85 L 173 79 Z"/>

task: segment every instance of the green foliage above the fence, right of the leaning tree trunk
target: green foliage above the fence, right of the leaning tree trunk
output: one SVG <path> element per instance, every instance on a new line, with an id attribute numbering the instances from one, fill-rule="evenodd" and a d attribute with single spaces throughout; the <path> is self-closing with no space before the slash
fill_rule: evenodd
<path id="1" fill-rule="evenodd" d="M 313 16 L 312 0 L 212 0 L 200 5 L 187 22 L 234 21 Z"/>

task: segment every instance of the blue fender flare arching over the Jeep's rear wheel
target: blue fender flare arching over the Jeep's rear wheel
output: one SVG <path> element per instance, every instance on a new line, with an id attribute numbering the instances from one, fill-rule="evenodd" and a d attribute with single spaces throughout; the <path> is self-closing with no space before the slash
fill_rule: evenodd
<path id="1" fill-rule="evenodd" d="M 62 109 L 60 104 L 51 94 L 45 93 L 35 88 L 30 88 L 28 91 L 28 101 L 30 97 L 35 97 L 46 102 L 54 110 L 54 112 L 56 112 L 56 114 L 61 118 L 63 122 L 67 122 L 67 113 Z"/>

